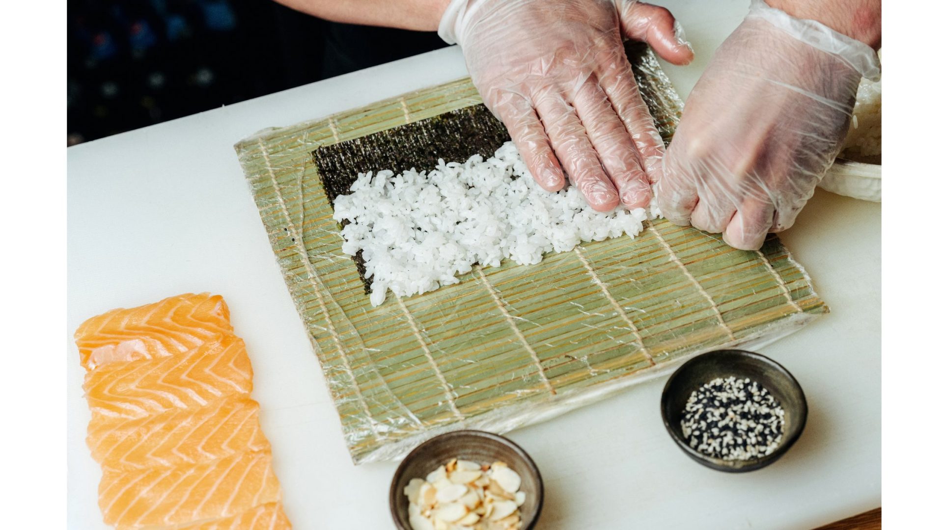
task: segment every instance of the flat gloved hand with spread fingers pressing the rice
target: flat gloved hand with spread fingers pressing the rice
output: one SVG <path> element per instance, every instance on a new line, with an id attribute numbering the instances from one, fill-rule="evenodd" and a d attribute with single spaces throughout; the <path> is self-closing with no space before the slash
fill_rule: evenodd
<path id="1" fill-rule="evenodd" d="M 458 42 L 472 82 L 545 190 L 564 171 L 589 206 L 648 205 L 664 143 L 622 39 L 687 64 L 665 8 L 634 0 L 453 0 L 438 34 Z"/>

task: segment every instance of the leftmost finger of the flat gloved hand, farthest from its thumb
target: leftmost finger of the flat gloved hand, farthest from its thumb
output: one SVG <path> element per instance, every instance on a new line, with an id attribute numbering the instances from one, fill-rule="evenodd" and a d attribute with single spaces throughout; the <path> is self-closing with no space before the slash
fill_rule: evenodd
<path id="1" fill-rule="evenodd" d="M 544 190 L 562 190 L 565 184 L 563 170 L 554 155 L 547 132 L 530 103 L 514 94 L 497 105 L 496 110 L 534 180 Z"/>

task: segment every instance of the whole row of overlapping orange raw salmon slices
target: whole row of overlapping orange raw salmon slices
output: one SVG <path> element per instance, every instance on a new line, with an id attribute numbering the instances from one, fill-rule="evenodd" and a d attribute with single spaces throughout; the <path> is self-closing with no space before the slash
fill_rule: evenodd
<path id="1" fill-rule="evenodd" d="M 119 530 L 290 529 L 221 296 L 116 309 L 75 332 L 98 503 Z"/>

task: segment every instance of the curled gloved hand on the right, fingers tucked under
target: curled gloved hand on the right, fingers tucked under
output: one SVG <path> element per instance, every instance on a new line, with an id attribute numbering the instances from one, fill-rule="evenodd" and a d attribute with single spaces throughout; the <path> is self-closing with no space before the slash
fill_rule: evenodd
<path id="1" fill-rule="evenodd" d="M 753 0 L 687 98 L 655 186 L 662 213 L 759 249 L 835 160 L 862 75 L 880 76 L 867 44 Z"/>

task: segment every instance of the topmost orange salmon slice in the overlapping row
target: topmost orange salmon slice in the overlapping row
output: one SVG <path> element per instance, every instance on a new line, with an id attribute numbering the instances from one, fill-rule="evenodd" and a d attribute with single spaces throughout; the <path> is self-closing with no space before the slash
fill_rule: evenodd
<path id="1" fill-rule="evenodd" d="M 114 309 L 75 331 L 82 366 L 172 356 L 231 333 L 229 307 L 219 295 L 181 294 L 147 306 Z"/>

